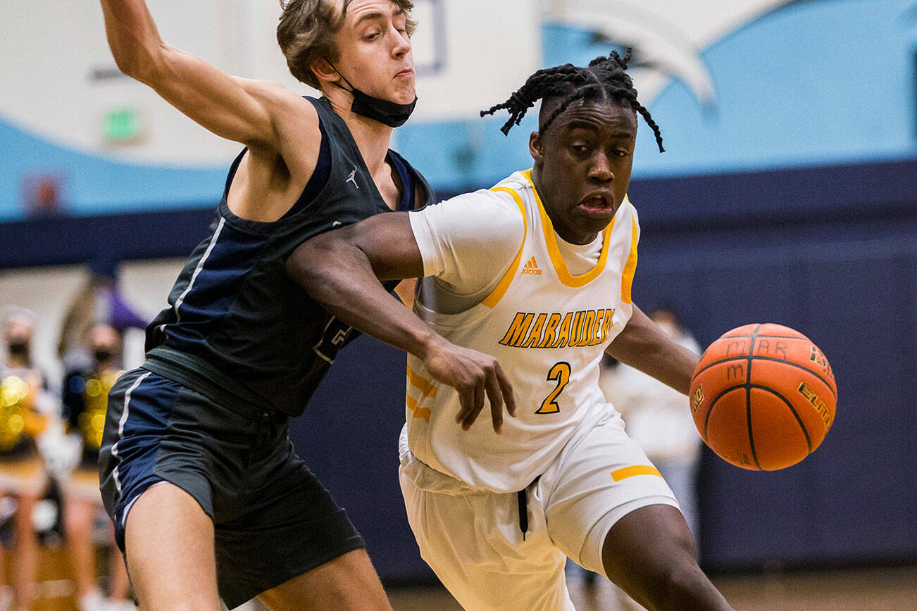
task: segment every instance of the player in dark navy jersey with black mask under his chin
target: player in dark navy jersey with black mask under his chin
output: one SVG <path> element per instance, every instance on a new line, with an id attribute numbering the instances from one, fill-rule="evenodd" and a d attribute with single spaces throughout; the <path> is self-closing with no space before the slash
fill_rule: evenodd
<path id="1" fill-rule="evenodd" d="M 142 0 L 102 5 L 122 71 L 246 147 L 149 325 L 147 361 L 109 395 L 101 487 L 141 608 L 257 595 L 272 609 L 388 609 L 359 533 L 287 436 L 351 334 L 288 277 L 287 259 L 321 232 L 433 201 L 389 150 L 416 101 L 413 5 L 282 3 L 278 40 L 317 100 L 170 47 Z M 469 411 L 503 391 L 490 356 L 435 342 L 427 357 Z"/>

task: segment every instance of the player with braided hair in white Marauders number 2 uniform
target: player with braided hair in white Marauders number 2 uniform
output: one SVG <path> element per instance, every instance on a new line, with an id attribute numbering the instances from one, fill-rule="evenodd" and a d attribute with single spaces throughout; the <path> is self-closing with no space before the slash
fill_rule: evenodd
<path id="1" fill-rule="evenodd" d="M 489 111 L 511 112 L 508 131 L 544 100 L 534 169 L 318 236 L 293 256 L 316 300 L 409 353 L 405 506 L 425 561 L 466 609 L 572 609 L 565 556 L 649 609 L 731 608 L 698 566 L 674 496 L 598 386 L 605 351 L 685 393 L 698 360 L 631 300 L 636 114 L 660 150 L 661 136 L 636 101 L 628 59 L 536 72 Z M 416 317 L 376 280 L 414 276 L 425 277 Z M 516 417 L 501 426 L 494 414 L 502 434 L 469 418 L 459 391 L 440 383 L 424 357 L 444 344 L 503 366 Z"/>

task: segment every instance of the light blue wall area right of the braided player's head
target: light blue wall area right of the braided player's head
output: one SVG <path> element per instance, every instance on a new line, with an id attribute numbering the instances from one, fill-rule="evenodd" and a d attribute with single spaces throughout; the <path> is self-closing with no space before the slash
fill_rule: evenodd
<path id="1" fill-rule="evenodd" d="M 650 110 L 667 153 L 638 176 L 830 165 L 917 157 L 914 0 L 788 5 L 713 45 L 717 105 L 681 82 Z M 649 130 L 639 148 L 651 150 Z"/>

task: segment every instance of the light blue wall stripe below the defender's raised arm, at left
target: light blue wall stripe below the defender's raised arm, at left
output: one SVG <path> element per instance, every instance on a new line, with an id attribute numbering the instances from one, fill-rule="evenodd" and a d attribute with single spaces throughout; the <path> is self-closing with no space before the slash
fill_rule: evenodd
<path id="1" fill-rule="evenodd" d="M 226 180 L 226 168 L 121 163 L 61 147 L 3 121 L 0 143 L 0 220 L 22 216 L 24 175 L 61 176 L 61 200 L 74 214 L 215 206 Z"/>

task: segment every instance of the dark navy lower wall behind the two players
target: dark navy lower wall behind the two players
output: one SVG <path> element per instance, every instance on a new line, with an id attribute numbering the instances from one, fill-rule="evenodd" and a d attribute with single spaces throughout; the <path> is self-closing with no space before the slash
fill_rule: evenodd
<path id="1" fill-rule="evenodd" d="M 704 454 L 704 562 L 917 559 L 917 162 L 641 181 L 631 199 L 638 304 L 676 304 L 702 345 L 748 322 L 787 324 L 837 377 L 834 427 L 801 464 L 746 472 Z M 0 224 L 0 267 L 183 256 L 212 214 Z M 390 581 L 430 577 L 398 489 L 403 398 L 403 355 L 363 338 L 292 430 Z"/>

